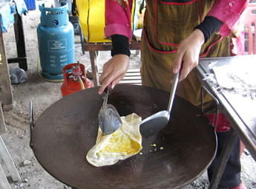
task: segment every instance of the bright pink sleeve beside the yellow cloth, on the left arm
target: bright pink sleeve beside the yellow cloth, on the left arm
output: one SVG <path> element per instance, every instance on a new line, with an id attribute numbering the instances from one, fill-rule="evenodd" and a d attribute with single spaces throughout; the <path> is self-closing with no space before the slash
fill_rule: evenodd
<path id="1" fill-rule="evenodd" d="M 105 36 L 125 35 L 129 40 L 131 30 L 131 4 L 132 0 L 122 1 L 124 7 L 117 0 L 105 0 Z"/>

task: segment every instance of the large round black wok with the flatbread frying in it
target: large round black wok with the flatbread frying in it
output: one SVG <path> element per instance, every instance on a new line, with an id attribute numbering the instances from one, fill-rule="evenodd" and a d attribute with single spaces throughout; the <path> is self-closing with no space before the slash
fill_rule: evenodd
<path id="1" fill-rule="evenodd" d="M 175 97 L 168 126 L 156 136 L 142 138 L 142 154 L 112 166 L 89 165 L 85 156 L 96 141 L 102 106 L 97 91 L 91 88 L 68 95 L 47 108 L 35 124 L 30 123 L 33 153 L 56 179 L 79 189 L 173 189 L 206 171 L 216 151 L 214 129 L 198 109 L 180 97 Z M 119 85 L 109 103 L 121 116 L 135 112 L 144 119 L 166 109 L 168 97 L 167 92 L 154 88 Z"/>

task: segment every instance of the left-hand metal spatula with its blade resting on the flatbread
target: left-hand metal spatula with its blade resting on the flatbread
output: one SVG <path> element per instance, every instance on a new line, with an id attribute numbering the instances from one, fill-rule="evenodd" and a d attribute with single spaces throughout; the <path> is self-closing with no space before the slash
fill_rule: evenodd
<path id="1" fill-rule="evenodd" d="M 109 86 L 105 89 L 105 98 L 98 114 L 99 127 L 104 135 L 113 133 L 122 125 L 122 120 L 116 108 L 108 103 L 110 90 L 111 88 Z"/>

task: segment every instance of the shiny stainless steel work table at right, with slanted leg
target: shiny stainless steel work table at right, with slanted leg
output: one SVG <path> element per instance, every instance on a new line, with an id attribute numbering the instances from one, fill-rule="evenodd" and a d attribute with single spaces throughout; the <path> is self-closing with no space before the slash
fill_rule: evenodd
<path id="1" fill-rule="evenodd" d="M 223 114 L 226 115 L 229 123 L 232 125 L 229 131 L 229 137 L 220 154 L 218 168 L 214 171 L 209 188 L 217 188 L 227 159 L 232 151 L 233 142 L 237 137 L 243 141 L 250 154 L 252 154 L 252 157 L 256 160 L 256 92 L 254 95 L 241 95 L 232 92 L 232 90 L 220 90 L 216 83 L 206 79 L 209 74 L 214 74 L 214 66 L 225 66 L 225 69 L 232 68 L 232 66 L 238 65 L 237 61 L 240 62 L 241 67 L 246 66 L 246 69 L 250 70 L 256 63 L 256 55 L 201 58 L 199 65 L 194 69 L 203 86 L 208 89 L 211 95 L 217 98 L 219 109 L 223 111 Z"/>

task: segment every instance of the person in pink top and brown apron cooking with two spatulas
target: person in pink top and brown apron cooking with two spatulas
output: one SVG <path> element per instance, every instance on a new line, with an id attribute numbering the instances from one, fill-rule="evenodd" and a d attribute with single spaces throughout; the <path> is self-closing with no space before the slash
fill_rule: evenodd
<path id="1" fill-rule="evenodd" d="M 200 106 L 200 80 L 191 70 L 200 57 L 223 57 L 243 54 L 240 15 L 249 0 L 154 0 L 146 1 L 141 49 L 142 85 L 170 92 L 174 74 L 180 72 L 177 95 Z M 103 66 L 99 94 L 124 78 L 129 66 L 132 0 L 106 0 L 105 35 L 111 38 L 112 58 Z M 210 95 L 204 97 L 211 123 L 215 115 Z M 230 128 L 220 114 L 217 122 L 218 151 L 209 167 L 211 179 L 217 158 Z M 246 188 L 240 180 L 240 142 L 220 180 L 221 188 Z"/>

